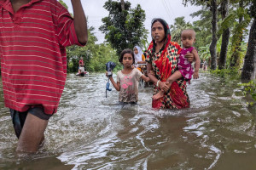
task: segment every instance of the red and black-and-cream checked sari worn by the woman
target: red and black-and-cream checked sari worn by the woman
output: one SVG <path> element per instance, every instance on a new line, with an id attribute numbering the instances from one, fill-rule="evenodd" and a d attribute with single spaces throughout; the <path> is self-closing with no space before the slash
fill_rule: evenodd
<path id="1" fill-rule="evenodd" d="M 166 82 L 175 71 L 177 71 L 177 59 L 181 49 L 177 42 L 171 42 L 171 33 L 168 25 L 166 32 L 166 42 L 158 53 L 155 53 L 154 40 L 149 44 L 146 61 L 152 65 L 155 77 L 161 82 Z M 155 109 L 181 109 L 190 105 L 189 96 L 186 91 L 186 82 L 184 78 L 172 82 L 171 88 L 165 93 L 164 97 L 152 101 L 152 107 Z M 157 94 L 160 88 L 154 85 L 154 94 Z"/>

